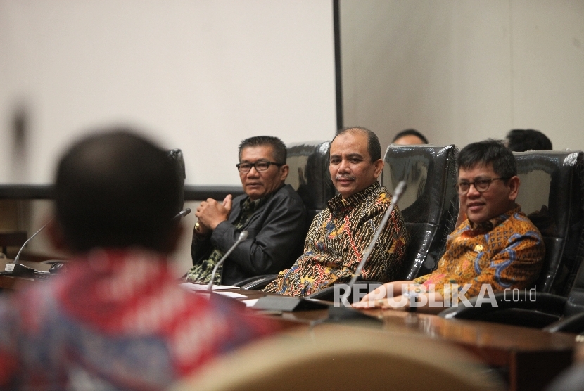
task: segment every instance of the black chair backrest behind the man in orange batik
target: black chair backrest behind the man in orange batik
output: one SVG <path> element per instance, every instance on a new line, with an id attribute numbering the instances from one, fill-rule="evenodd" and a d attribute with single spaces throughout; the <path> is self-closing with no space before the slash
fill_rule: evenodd
<path id="1" fill-rule="evenodd" d="M 545 243 L 537 289 L 566 296 L 584 257 L 584 153 L 531 150 L 513 154 L 521 179 L 516 202 Z M 584 274 L 580 280 L 584 305 Z"/>

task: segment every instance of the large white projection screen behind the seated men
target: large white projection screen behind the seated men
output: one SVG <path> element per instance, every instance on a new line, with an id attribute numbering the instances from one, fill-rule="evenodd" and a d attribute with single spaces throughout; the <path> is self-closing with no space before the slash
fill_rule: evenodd
<path id="1" fill-rule="evenodd" d="M 0 183 L 50 182 L 75 136 L 114 123 L 182 148 L 188 184 L 239 184 L 248 136 L 330 139 L 332 2 L 0 0 Z"/>

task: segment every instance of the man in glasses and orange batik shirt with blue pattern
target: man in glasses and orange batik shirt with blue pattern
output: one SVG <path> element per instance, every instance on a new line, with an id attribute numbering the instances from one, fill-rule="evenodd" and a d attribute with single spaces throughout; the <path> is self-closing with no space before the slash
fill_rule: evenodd
<path id="1" fill-rule="evenodd" d="M 411 301 L 402 300 L 405 293 L 426 303 L 419 309 L 440 312 L 445 306 L 440 302 L 452 302 L 444 299 L 453 288 L 470 298 L 487 288 L 495 293 L 533 287 L 545 246 L 540 231 L 515 203 L 519 177 L 511 151 L 492 139 L 464 147 L 458 155 L 456 186 L 466 219 L 448 236 L 438 268 L 414 281 L 388 283 L 355 307 L 407 309 Z"/>

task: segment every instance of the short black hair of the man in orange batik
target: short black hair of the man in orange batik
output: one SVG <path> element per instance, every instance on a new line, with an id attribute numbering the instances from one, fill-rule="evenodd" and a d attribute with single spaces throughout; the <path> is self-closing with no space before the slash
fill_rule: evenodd
<path id="1" fill-rule="evenodd" d="M 471 169 L 476 165 L 493 165 L 493 171 L 502 178 L 517 174 L 517 163 L 511 150 L 502 140 L 487 139 L 471 143 L 458 154 L 458 169 Z"/>

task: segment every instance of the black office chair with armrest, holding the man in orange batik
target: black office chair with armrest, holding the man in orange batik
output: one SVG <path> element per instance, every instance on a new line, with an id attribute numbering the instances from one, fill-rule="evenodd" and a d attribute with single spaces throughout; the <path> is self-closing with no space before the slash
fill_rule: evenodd
<path id="1" fill-rule="evenodd" d="M 562 317 L 584 312 L 584 153 L 528 151 L 514 153 L 521 187 L 517 203 L 538 226 L 545 242 L 545 261 L 535 294 L 495 295 L 497 307 L 445 309 L 440 316 L 476 319 L 559 331 L 578 323 Z M 527 297 L 527 299 L 525 299 Z M 535 298 L 534 298 L 535 297 Z M 532 300 L 533 299 L 533 300 Z"/>

